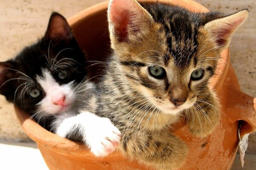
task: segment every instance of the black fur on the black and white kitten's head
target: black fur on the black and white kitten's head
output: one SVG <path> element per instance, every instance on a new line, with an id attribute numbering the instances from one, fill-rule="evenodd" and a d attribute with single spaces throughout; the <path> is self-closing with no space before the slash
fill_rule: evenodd
<path id="1" fill-rule="evenodd" d="M 61 20 L 60 26 L 55 25 L 55 19 Z M 55 30 L 57 27 L 64 28 L 62 34 Z M 50 60 L 55 59 L 58 55 L 56 61 L 63 59 L 61 63 L 67 63 L 65 69 L 69 71 L 69 79 L 64 82 L 56 79 L 59 84 L 73 80 L 81 82 L 84 79 L 86 75 L 84 53 L 80 50 L 66 19 L 58 13 L 52 13 L 44 37 L 38 42 L 25 47 L 13 59 L 0 63 L 0 94 L 6 96 L 6 99 L 13 102 L 18 108 L 33 114 L 36 111 L 36 104 L 45 96 L 45 92 L 36 82 L 35 76 L 41 75 L 43 68 L 47 68 L 53 76 L 56 72 L 55 69 L 48 68 L 48 55 Z M 35 87 L 39 88 L 43 95 L 33 99 L 29 97 L 29 91 L 26 91 L 24 97 L 22 96 L 21 93 L 24 87 L 22 83 L 26 80 L 15 78 L 26 77 L 23 74 L 32 79 Z M 46 124 L 48 123 L 46 122 Z"/>

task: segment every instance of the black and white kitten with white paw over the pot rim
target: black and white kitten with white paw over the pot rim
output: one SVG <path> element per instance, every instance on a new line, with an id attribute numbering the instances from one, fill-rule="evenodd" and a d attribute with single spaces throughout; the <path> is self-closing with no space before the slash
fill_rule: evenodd
<path id="1" fill-rule="evenodd" d="M 81 113 L 72 131 L 66 130 L 93 88 L 92 83 L 84 81 L 85 63 L 67 20 L 52 13 L 41 40 L 24 48 L 14 59 L 0 62 L 0 94 L 31 113 L 47 130 L 84 142 L 96 156 L 105 156 L 120 139 L 119 130 L 109 119 Z"/>

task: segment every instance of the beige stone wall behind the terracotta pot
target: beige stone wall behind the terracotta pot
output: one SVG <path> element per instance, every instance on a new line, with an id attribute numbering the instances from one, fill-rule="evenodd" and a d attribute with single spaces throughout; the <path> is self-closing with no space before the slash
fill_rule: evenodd
<path id="1" fill-rule="evenodd" d="M 49 15 L 58 11 L 65 17 L 103 0 L 4 0 L 0 5 L 0 61 L 9 59 L 17 51 L 44 34 Z M 255 0 L 196 0 L 210 9 L 229 13 L 249 8 L 248 20 L 233 35 L 230 47 L 231 62 L 239 78 L 242 91 L 256 96 L 256 2 Z M 27 139 L 18 124 L 13 106 L 0 96 L 0 140 Z M 256 142 L 256 135 L 250 137 Z M 252 144 L 249 149 L 253 150 Z M 254 149 L 254 152 L 256 150 Z"/>

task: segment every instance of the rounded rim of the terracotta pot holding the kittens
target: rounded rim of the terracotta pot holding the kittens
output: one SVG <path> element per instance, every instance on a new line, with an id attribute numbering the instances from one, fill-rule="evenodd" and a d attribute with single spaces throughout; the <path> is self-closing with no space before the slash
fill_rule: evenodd
<path id="1" fill-rule="evenodd" d="M 207 12 L 208 9 L 202 6 L 199 3 L 196 3 L 192 0 L 158 0 L 161 3 L 175 3 L 179 4 L 180 6 L 190 5 L 193 8 L 198 9 L 198 11 Z M 156 0 L 143 0 L 143 2 L 156 2 Z M 88 17 L 97 11 L 105 10 L 108 7 L 108 1 L 96 4 L 91 6 L 90 8 L 86 8 L 83 11 L 73 15 L 68 19 L 68 23 L 70 24 L 71 28 L 78 23 L 81 18 Z M 215 91 L 218 92 L 221 88 L 221 84 L 224 82 L 224 79 L 227 75 L 228 67 L 226 63 L 229 63 L 229 50 L 226 49 L 221 53 L 221 61 L 218 64 L 218 71 L 221 74 L 217 74 L 211 81 L 211 87 L 215 88 Z M 30 119 L 30 115 L 21 111 L 19 108 L 15 107 L 15 113 L 17 118 L 22 125 L 23 130 L 26 134 L 35 142 L 43 144 L 44 146 L 54 149 L 58 152 L 62 153 L 75 153 L 76 155 L 83 155 L 83 156 L 93 156 L 87 149 L 87 147 L 80 143 L 80 142 L 73 142 L 69 139 L 63 138 L 61 136 L 55 135 L 38 125 L 34 120 Z M 119 154 L 118 152 L 114 153 Z"/>

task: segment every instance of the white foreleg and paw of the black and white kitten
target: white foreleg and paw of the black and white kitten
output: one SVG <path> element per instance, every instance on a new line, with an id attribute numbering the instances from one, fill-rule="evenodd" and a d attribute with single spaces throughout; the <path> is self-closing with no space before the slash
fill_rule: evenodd
<path id="1" fill-rule="evenodd" d="M 72 113 L 62 114 L 54 124 L 56 125 L 55 133 L 62 137 L 72 133 L 73 128 L 79 127 L 83 142 L 96 156 L 106 156 L 113 152 L 121 139 L 120 131 L 108 118 L 102 118 L 90 112 L 82 112 L 76 116 Z"/>

